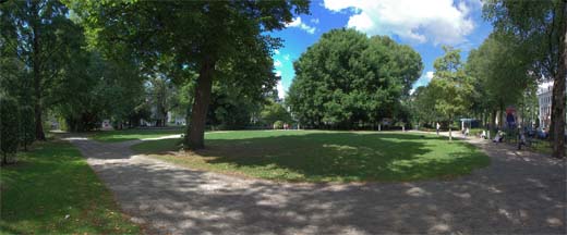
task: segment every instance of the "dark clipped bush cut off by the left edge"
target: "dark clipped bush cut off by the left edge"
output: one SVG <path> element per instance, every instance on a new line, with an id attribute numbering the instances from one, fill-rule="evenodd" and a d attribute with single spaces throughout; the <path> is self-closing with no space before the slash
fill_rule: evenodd
<path id="1" fill-rule="evenodd" d="M 2 163 L 7 164 L 15 156 L 20 146 L 20 112 L 14 98 L 0 95 L 0 153 Z"/>

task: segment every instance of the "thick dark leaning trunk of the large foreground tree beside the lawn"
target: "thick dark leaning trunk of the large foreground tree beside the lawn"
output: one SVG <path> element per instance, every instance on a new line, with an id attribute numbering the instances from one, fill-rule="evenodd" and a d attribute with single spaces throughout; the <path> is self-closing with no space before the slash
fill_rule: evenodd
<path id="1" fill-rule="evenodd" d="M 195 99 L 191 109 L 191 120 L 188 127 L 185 143 L 191 149 L 202 149 L 205 147 L 205 124 L 207 121 L 207 110 L 210 102 L 210 92 L 213 88 L 213 73 L 215 71 L 216 61 L 212 58 L 205 58 L 197 78 L 195 87 Z"/>

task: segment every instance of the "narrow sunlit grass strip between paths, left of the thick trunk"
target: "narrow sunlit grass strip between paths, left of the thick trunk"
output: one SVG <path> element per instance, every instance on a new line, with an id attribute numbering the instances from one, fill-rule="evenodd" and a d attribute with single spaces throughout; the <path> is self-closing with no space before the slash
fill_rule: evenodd
<path id="1" fill-rule="evenodd" d="M 182 133 L 183 128 L 100 131 L 92 134 L 91 138 L 104 143 L 119 143 L 143 138 L 156 138 Z"/>

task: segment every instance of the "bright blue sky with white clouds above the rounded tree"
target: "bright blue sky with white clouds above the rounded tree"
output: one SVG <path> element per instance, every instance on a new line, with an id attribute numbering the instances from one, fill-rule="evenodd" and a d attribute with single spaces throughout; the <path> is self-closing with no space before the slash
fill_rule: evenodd
<path id="1" fill-rule="evenodd" d="M 285 40 L 274 53 L 276 73 L 281 75 L 280 97 L 294 77 L 293 61 L 333 28 L 352 27 L 369 36 L 387 35 L 409 45 L 423 60 L 423 74 L 413 87 L 433 76 L 433 61 L 443 54 L 442 45 L 462 50 L 463 59 L 492 32 L 482 18 L 479 0 L 313 0 L 310 15 L 295 15 L 288 27 L 270 33 Z"/>

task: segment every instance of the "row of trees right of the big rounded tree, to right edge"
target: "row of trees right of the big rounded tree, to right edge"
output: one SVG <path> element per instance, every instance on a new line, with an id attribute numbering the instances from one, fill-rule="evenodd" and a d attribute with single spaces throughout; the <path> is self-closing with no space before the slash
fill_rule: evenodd
<path id="1" fill-rule="evenodd" d="M 553 156 L 564 158 L 567 3 L 491 0 L 483 15 L 494 32 L 466 62 L 459 50 L 444 48 L 432 82 L 412 96 L 415 120 L 450 125 L 456 116 L 476 118 L 502 128 L 505 109 L 515 106 L 524 121 L 535 121 L 538 84 L 553 81 L 550 140 Z"/>

